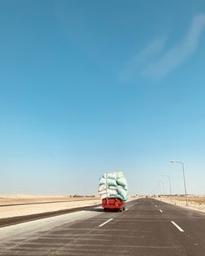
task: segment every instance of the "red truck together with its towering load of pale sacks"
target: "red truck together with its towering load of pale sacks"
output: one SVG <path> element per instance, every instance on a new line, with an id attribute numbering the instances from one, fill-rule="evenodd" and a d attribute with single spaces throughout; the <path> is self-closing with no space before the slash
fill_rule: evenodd
<path id="1" fill-rule="evenodd" d="M 98 182 L 98 194 L 102 199 L 104 211 L 125 210 L 127 201 L 127 181 L 122 171 L 105 173 Z"/>

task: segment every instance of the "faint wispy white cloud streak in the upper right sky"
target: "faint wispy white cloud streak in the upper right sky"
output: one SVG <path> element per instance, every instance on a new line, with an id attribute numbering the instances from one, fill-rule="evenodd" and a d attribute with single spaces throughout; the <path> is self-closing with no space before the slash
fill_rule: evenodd
<path id="1" fill-rule="evenodd" d="M 166 39 L 156 40 L 126 66 L 124 75 L 128 77 L 141 73 L 144 76 L 163 78 L 196 52 L 204 28 L 205 14 L 194 16 L 187 34 L 180 42 L 162 53 Z"/>

